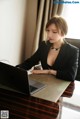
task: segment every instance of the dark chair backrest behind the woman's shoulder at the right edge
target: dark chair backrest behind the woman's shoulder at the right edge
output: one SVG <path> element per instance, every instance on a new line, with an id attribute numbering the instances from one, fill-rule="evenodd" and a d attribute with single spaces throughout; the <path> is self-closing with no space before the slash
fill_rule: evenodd
<path id="1" fill-rule="evenodd" d="M 66 38 L 66 41 L 79 48 L 78 71 L 75 80 L 80 81 L 80 39 Z"/>

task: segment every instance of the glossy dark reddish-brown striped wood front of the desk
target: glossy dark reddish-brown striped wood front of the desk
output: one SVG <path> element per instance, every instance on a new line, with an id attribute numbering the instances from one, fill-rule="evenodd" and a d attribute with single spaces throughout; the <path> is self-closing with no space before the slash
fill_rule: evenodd
<path id="1" fill-rule="evenodd" d="M 0 111 L 8 110 L 9 119 L 56 119 L 58 103 L 0 89 Z"/>

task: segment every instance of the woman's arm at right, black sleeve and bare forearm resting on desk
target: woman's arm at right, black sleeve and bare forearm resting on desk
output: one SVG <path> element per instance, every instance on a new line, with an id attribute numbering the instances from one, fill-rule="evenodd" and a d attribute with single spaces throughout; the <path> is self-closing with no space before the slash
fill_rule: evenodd
<path id="1" fill-rule="evenodd" d="M 73 51 L 73 52 L 72 52 Z M 70 58 L 67 61 L 67 64 L 65 64 L 65 67 L 57 70 L 54 69 L 47 69 L 47 70 L 33 70 L 32 73 L 34 74 L 52 74 L 56 76 L 59 79 L 67 80 L 67 81 L 74 81 L 76 74 L 77 74 L 77 68 L 78 68 L 78 57 L 79 57 L 79 50 L 75 49 L 72 50 L 70 55 Z"/>

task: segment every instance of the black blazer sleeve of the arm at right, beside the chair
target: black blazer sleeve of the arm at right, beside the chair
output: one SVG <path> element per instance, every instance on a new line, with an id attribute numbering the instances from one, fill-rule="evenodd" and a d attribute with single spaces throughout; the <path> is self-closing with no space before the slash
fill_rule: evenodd
<path id="1" fill-rule="evenodd" d="M 67 81 L 74 81 L 78 69 L 78 57 L 79 50 L 73 50 L 73 52 L 71 53 L 71 57 L 67 63 L 67 67 L 63 70 L 57 70 L 56 77 Z"/>

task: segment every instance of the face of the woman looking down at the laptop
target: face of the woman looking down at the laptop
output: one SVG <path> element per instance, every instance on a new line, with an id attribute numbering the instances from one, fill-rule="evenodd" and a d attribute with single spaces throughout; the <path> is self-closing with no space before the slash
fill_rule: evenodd
<path id="1" fill-rule="evenodd" d="M 63 38 L 63 35 L 61 34 L 61 30 L 58 31 L 55 24 L 51 24 L 47 29 L 47 40 L 50 43 L 55 43 Z"/>

